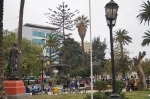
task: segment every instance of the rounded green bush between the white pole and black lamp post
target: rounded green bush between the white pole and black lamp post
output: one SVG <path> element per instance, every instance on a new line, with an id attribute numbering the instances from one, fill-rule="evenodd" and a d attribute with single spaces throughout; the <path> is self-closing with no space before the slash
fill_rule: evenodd
<path id="1" fill-rule="evenodd" d="M 94 86 L 98 88 L 99 92 L 101 90 L 106 90 L 107 89 L 107 82 L 106 81 L 96 81 L 94 83 Z"/>

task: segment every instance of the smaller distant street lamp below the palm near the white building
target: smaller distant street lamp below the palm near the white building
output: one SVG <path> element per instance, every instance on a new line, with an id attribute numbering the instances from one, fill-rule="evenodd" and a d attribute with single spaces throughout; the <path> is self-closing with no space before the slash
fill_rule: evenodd
<path id="1" fill-rule="evenodd" d="M 44 81 L 43 81 L 43 65 L 44 61 L 48 61 L 48 56 L 44 56 L 43 54 L 37 55 L 37 60 L 41 61 L 42 63 L 42 81 L 41 81 L 41 91 L 44 91 Z"/>

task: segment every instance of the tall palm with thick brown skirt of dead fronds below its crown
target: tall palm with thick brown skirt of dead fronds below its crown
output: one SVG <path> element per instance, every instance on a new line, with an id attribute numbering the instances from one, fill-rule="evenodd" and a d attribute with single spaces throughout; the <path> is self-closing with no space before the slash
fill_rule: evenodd
<path id="1" fill-rule="evenodd" d="M 85 58 L 84 58 L 84 37 L 86 35 L 87 27 L 89 25 L 89 20 L 87 16 L 84 15 L 79 16 L 75 19 L 76 27 L 78 28 L 79 36 L 81 37 L 82 44 L 82 66 L 85 66 Z"/>

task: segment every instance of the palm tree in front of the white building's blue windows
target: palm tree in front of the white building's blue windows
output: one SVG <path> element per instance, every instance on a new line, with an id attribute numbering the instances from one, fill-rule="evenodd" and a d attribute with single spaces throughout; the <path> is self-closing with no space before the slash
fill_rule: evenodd
<path id="1" fill-rule="evenodd" d="M 52 53 L 55 53 L 56 51 L 59 50 L 59 45 L 60 45 L 59 36 L 57 34 L 50 33 L 46 38 L 46 44 L 43 46 L 43 48 L 49 47 L 50 76 L 52 76 L 52 68 L 51 68 Z"/>

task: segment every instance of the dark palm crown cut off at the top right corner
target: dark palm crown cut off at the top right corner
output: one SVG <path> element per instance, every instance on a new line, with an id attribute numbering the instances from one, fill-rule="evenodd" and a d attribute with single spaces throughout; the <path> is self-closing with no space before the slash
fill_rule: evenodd
<path id="1" fill-rule="evenodd" d="M 140 14 L 137 16 L 137 18 L 140 21 L 140 24 L 145 21 L 148 22 L 150 21 L 150 1 L 147 0 L 147 3 L 143 1 L 143 4 L 141 5 L 142 9 L 140 10 Z"/>

